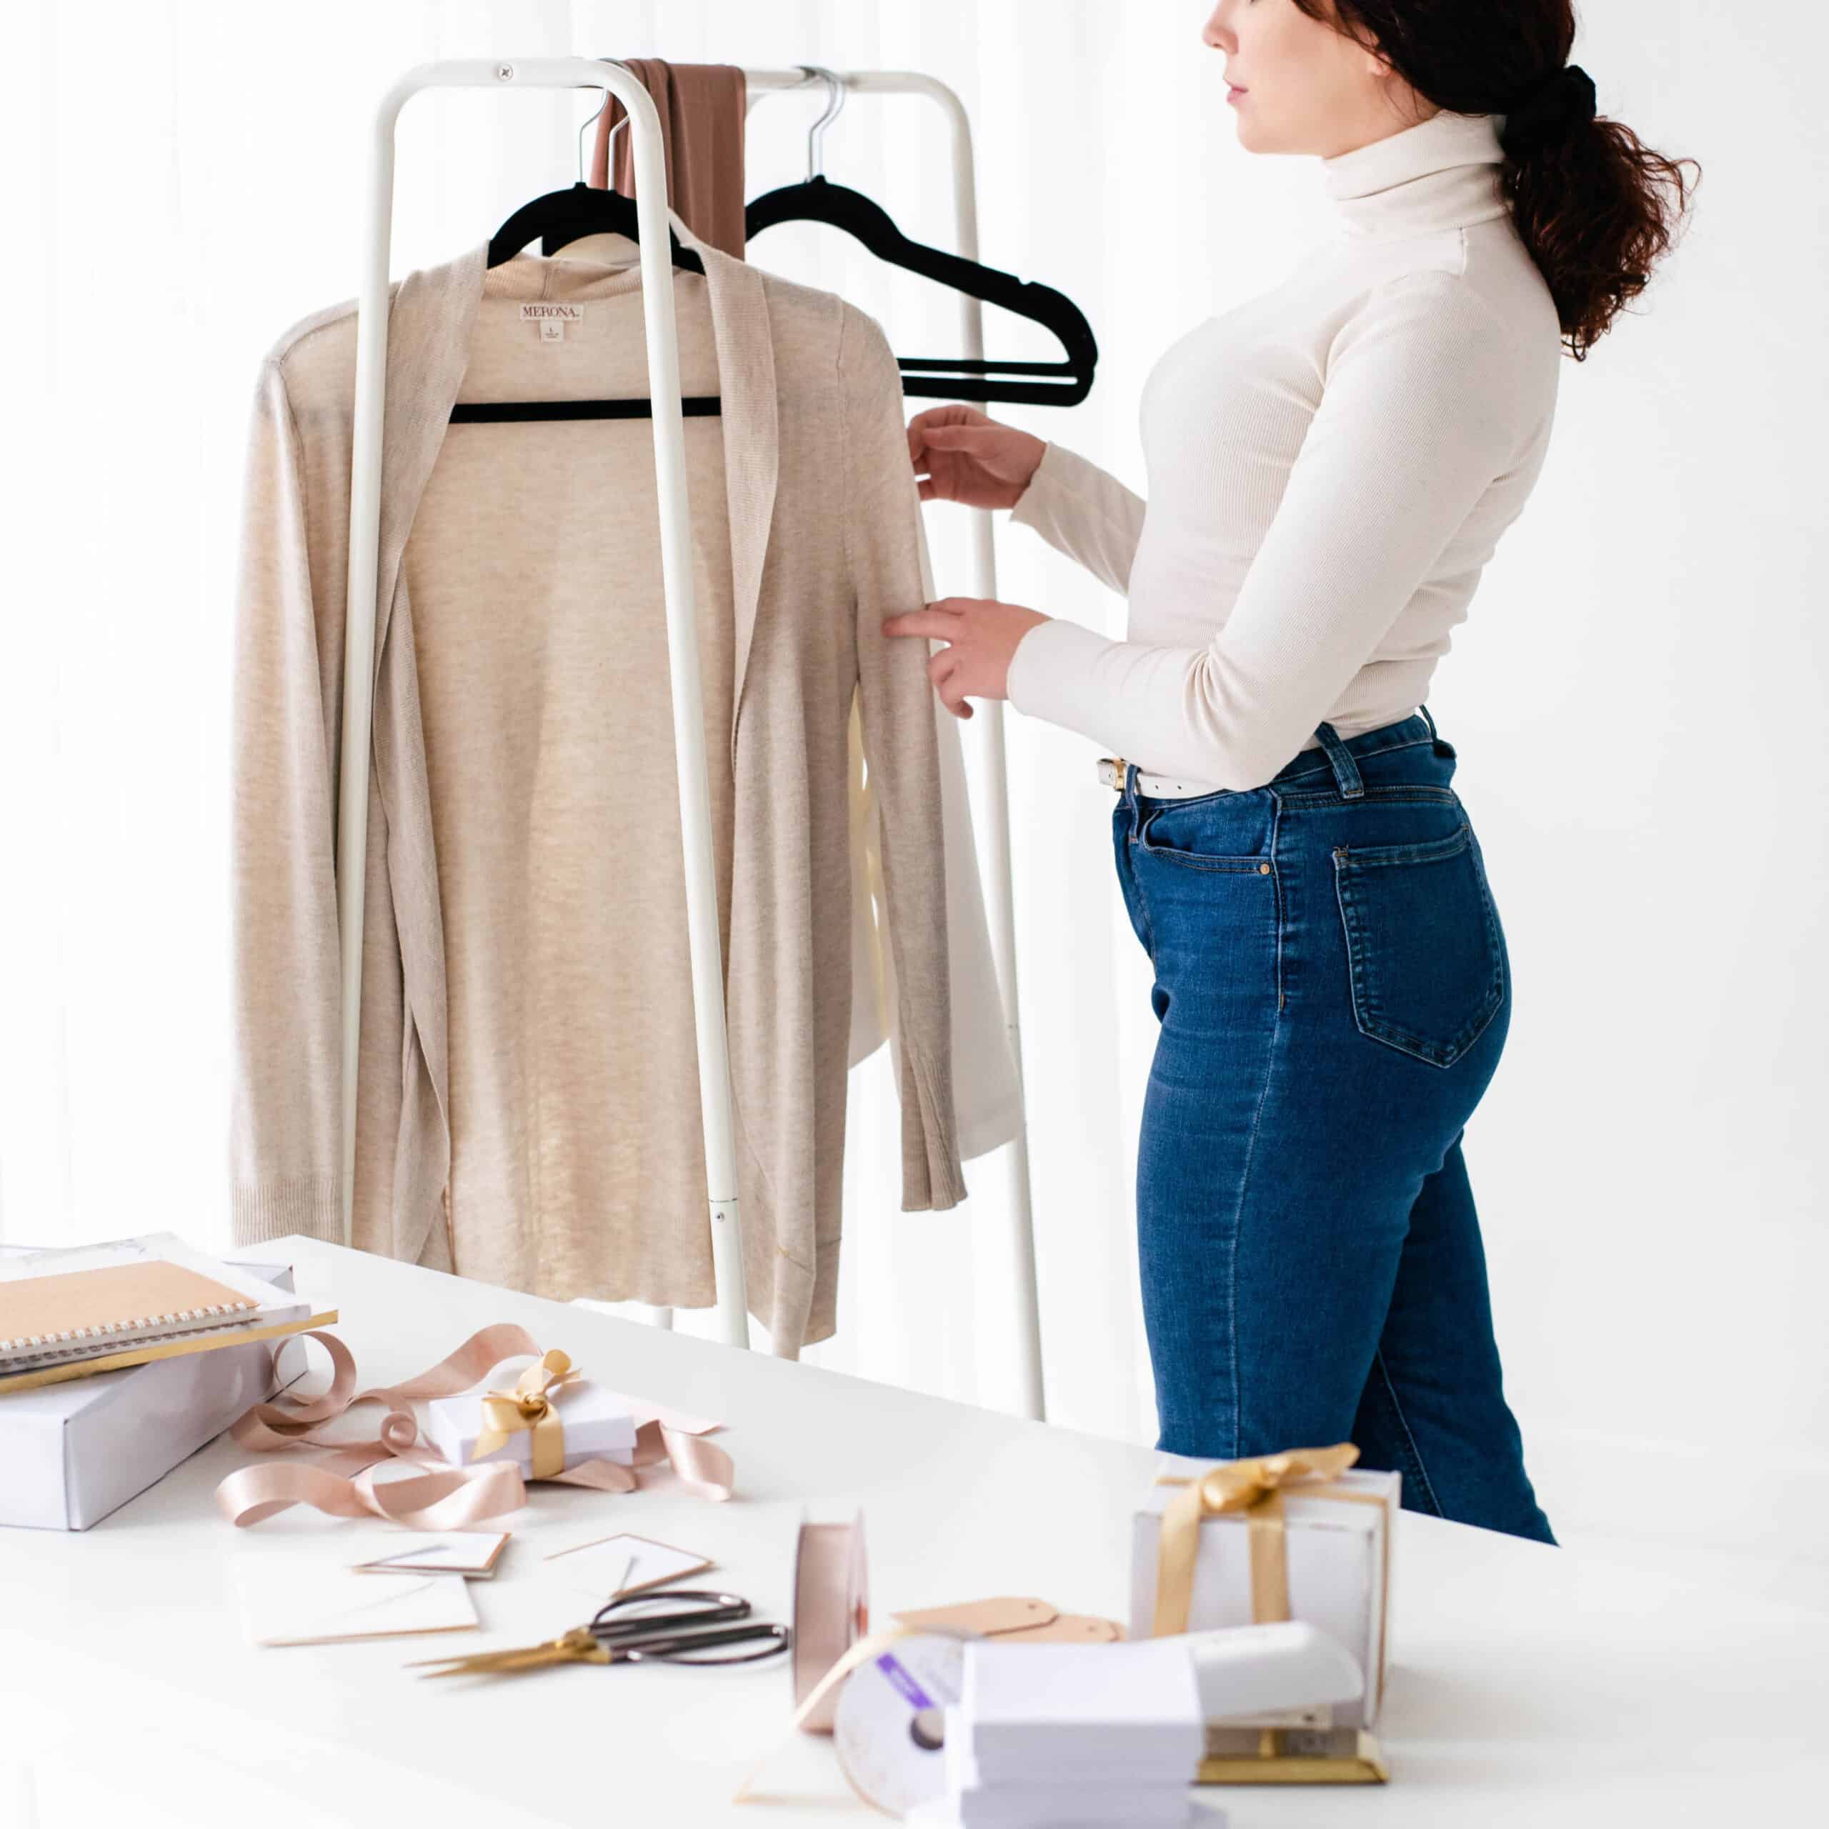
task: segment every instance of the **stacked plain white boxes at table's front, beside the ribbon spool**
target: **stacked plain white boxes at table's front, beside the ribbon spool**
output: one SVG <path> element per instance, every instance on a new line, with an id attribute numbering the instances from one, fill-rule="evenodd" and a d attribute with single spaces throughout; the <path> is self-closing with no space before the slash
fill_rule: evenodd
<path id="1" fill-rule="evenodd" d="M 1196 1820 L 1189 1785 L 1203 1745 L 1200 1688 L 1180 1641 L 977 1641 L 946 1717 L 949 1796 L 938 1820 L 1185 1824 Z"/>

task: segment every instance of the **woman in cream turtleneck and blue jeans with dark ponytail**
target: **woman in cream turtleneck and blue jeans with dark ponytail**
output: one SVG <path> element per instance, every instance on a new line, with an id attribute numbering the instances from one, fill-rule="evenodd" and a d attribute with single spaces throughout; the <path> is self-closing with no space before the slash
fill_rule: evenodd
<path id="1" fill-rule="evenodd" d="M 924 499 L 1013 508 L 1128 594 L 1128 640 L 964 598 L 887 627 L 946 644 L 960 717 L 1008 697 L 1112 750 L 1161 1024 L 1161 1447 L 1352 1439 L 1407 1505 L 1555 1542 L 1461 1156 L 1505 938 L 1423 697 L 1542 468 L 1562 348 L 1642 291 L 1685 177 L 1595 119 L 1569 0 L 1220 0 L 1203 37 L 1242 144 L 1322 159 L 1337 234 L 1161 358 L 1149 510 L 969 408 L 909 428 Z"/>

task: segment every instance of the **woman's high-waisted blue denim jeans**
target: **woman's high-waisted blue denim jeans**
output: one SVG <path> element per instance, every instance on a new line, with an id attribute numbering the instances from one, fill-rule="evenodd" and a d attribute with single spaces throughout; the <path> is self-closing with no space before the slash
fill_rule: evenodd
<path id="1" fill-rule="evenodd" d="M 1160 1447 L 1353 1441 L 1416 1511 L 1555 1542 L 1505 1405 L 1461 1132 L 1511 1017 L 1423 710 L 1112 818 L 1161 1032 L 1138 1145 Z"/>

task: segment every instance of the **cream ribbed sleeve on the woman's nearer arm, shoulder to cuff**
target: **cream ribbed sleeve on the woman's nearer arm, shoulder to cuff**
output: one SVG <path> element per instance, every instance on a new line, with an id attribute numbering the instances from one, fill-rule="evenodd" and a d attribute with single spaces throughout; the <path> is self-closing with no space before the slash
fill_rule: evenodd
<path id="1" fill-rule="evenodd" d="M 1262 786 L 1520 459 L 1536 413 L 1471 285 L 1428 269 L 1375 287 L 1326 351 L 1319 410 L 1213 640 L 1158 647 L 1048 622 L 1017 647 L 1011 704 L 1156 770 Z"/>

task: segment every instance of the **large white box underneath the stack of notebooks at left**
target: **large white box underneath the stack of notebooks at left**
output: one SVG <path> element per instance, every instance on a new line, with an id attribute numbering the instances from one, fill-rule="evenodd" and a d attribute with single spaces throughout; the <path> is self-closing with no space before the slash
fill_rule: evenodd
<path id="1" fill-rule="evenodd" d="M 291 1293 L 285 1266 L 225 1262 Z M 0 1392 L 0 1525 L 86 1531 L 276 1390 L 282 1341 Z"/>

